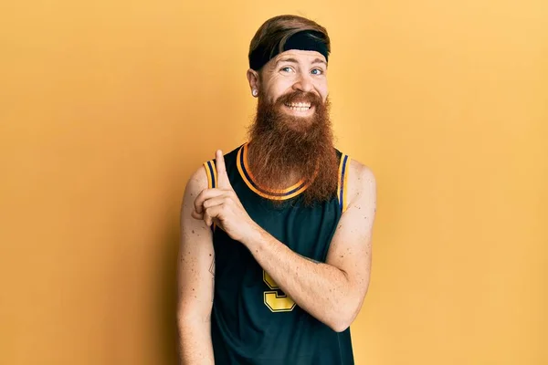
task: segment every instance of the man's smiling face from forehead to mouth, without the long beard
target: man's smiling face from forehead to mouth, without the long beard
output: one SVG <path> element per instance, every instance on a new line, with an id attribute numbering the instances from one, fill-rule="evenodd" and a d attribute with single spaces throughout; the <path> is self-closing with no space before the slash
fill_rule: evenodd
<path id="1" fill-rule="evenodd" d="M 294 118 L 311 118 L 327 99 L 327 64 L 316 51 L 290 49 L 261 70 L 260 98 Z"/>

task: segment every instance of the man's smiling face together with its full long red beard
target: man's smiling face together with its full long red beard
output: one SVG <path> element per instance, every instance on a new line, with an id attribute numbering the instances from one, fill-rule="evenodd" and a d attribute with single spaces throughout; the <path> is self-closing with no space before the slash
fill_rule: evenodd
<path id="1" fill-rule="evenodd" d="M 257 183 L 273 190 L 294 183 L 290 176 L 304 179 L 311 184 L 305 202 L 328 199 L 338 183 L 326 71 L 321 53 L 301 50 L 279 54 L 260 74 L 248 70 L 251 90 L 259 90 L 249 130 L 251 171 Z"/>

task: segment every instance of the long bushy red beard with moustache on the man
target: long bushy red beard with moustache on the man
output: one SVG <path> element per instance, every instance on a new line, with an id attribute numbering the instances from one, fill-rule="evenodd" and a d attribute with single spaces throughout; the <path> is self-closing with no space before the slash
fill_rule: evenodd
<path id="1" fill-rule="evenodd" d="M 310 102 L 311 117 L 296 117 L 282 111 L 286 103 Z M 269 190 L 290 186 L 290 177 L 309 187 L 303 203 L 311 205 L 336 196 L 338 159 L 333 148 L 329 100 L 300 91 L 273 103 L 258 99 L 255 123 L 249 129 L 249 168 L 257 183 Z"/>

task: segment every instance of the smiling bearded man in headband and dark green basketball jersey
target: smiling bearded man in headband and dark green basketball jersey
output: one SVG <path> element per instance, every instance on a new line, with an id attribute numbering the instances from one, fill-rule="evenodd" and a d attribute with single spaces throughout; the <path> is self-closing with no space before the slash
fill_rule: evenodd
<path id="1" fill-rule="evenodd" d="M 333 147 L 330 40 L 277 16 L 249 49 L 249 142 L 205 162 L 181 212 L 184 364 L 353 364 L 369 284 L 373 173 Z"/>

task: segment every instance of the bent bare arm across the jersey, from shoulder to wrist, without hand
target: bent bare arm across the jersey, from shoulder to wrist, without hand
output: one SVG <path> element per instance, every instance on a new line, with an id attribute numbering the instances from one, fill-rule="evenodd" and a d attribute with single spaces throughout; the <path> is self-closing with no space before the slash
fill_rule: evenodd
<path id="1" fill-rule="evenodd" d="M 279 287 L 314 318 L 342 331 L 357 316 L 369 286 L 376 205 L 373 172 L 353 162 L 351 201 L 332 238 L 326 263 L 295 254 L 260 227 L 243 241 Z"/>

